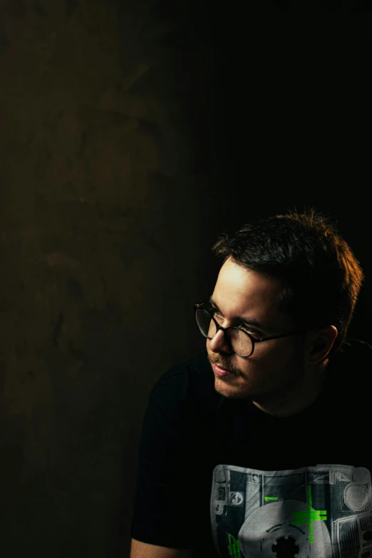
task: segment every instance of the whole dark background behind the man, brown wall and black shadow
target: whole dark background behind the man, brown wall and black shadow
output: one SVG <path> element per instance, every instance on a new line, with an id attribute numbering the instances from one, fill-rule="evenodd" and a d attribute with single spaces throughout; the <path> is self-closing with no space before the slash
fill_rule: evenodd
<path id="1" fill-rule="evenodd" d="M 326 212 L 371 340 L 370 4 L 0 0 L 4 558 L 128 557 L 148 393 L 204 346 L 222 232 Z"/>

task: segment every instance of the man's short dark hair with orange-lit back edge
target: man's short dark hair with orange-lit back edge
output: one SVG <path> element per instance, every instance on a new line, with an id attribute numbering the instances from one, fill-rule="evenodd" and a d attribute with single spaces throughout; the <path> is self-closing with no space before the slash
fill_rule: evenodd
<path id="1" fill-rule="evenodd" d="M 336 224 L 314 208 L 245 224 L 222 234 L 212 247 L 227 258 L 284 282 L 280 303 L 299 329 L 336 326 L 339 335 L 329 356 L 346 338 L 364 279 L 361 265 Z"/>

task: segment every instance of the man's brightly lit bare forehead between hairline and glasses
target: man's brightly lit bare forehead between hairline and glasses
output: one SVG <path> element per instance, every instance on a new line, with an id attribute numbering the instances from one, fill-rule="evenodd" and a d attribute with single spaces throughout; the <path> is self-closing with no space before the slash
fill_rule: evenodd
<path id="1" fill-rule="evenodd" d="M 268 325 L 283 319 L 279 295 L 284 284 L 260 272 L 242 267 L 227 259 L 219 271 L 213 299 L 226 317 L 247 316 Z"/>

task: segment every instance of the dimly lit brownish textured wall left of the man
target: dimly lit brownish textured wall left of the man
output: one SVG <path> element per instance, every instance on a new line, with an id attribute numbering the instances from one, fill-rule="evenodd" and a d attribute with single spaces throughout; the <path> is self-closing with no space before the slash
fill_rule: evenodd
<path id="1" fill-rule="evenodd" d="M 192 344 L 201 207 L 169 14 L 1 1 L 6 558 L 113 553 L 148 390 Z"/>

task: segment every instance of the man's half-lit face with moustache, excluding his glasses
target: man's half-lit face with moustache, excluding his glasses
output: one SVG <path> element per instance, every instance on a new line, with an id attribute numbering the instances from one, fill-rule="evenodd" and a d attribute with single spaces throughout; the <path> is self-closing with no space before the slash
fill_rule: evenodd
<path id="1" fill-rule="evenodd" d="M 258 321 L 260 327 L 244 326 L 256 339 L 294 331 L 294 320 L 279 310 L 278 297 L 284 285 L 272 277 L 235 264 L 231 258 L 220 269 L 212 299 L 215 316 L 222 327 L 242 326 L 244 319 Z M 243 322 L 244 323 L 244 322 Z M 233 353 L 219 330 L 207 339 L 210 363 L 217 363 L 234 374 L 215 374 L 215 389 L 227 398 L 249 398 L 284 393 L 304 374 L 303 345 L 299 336 L 256 343 L 248 358 Z"/>

